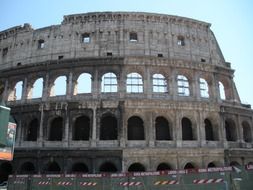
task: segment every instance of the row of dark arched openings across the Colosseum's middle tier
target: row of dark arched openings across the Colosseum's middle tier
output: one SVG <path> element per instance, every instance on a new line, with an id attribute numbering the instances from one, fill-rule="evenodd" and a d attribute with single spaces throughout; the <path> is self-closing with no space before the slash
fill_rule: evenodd
<path id="1" fill-rule="evenodd" d="M 99 140 L 119 140 L 120 121 L 113 114 L 102 115 L 100 120 Z M 63 140 L 64 118 L 61 116 L 52 118 L 48 123 L 46 140 Z M 89 141 L 92 138 L 92 121 L 90 117 L 81 115 L 71 125 L 73 141 Z M 203 122 L 206 141 L 218 141 L 221 139 L 217 124 L 206 118 Z M 40 122 L 37 118 L 32 119 L 25 127 L 25 141 L 37 141 L 39 136 Z M 198 140 L 197 126 L 188 117 L 181 119 L 182 140 Z M 243 140 L 252 142 L 252 131 L 247 121 L 242 122 Z M 139 116 L 131 116 L 127 120 L 127 140 L 145 140 L 146 127 Z M 158 116 L 154 122 L 154 138 L 159 141 L 175 140 L 173 125 L 165 117 Z M 227 141 L 237 141 L 239 135 L 233 119 L 225 119 L 225 138 Z"/>

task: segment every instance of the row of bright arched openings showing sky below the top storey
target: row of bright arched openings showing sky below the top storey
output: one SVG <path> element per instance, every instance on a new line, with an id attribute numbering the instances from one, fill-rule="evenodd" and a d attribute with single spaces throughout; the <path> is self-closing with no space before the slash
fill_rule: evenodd
<path id="1" fill-rule="evenodd" d="M 157 93 L 169 93 L 169 79 L 170 77 L 166 77 L 163 74 L 155 73 L 152 75 L 150 86 L 152 87 L 152 92 Z M 177 95 L 178 96 L 192 96 L 193 93 L 193 84 L 192 80 L 187 78 L 185 75 L 177 75 L 176 76 L 176 86 L 177 86 Z M 94 84 L 93 77 L 90 73 L 82 73 L 79 75 L 76 81 L 74 81 L 73 87 L 73 95 L 78 94 L 89 94 L 94 92 Z M 199 96 L 201 98 L 209 98 L 210 96 L 210 85 L 209 82 L 205 78 L 199 78 L 198 80 L 198 88 L 199 88 Z M 137 73 L 129 73 L 126 76 L 125 81 L 127 93 L 143 93 L 144 92 L 144 79 L 143 77 Z M 221 99 L 226 99 L 226 88 L 224 87 L 223 82 L 218 82 L 219 94 Z M 13 87 L 9 87 L 10 92 L 8 95 L 8 100 L 21 100 L 23 96 L 23 88 L 24 82 L 18 81 Z M 27 98 L 41 98 L 43 95 L 43 89 L 45 88 L 44 78 L 36 79 L 32 84 L 29 83 L 27 86 Z M 119 81 L 118 76 L 113 73 L 105 73 L 101 77 L 101 93 L 116 93 L 119 91 Z M 228 93 L 228 92 L 227 92 Z M 52 84 L 49 85 L 49 96 L 61 96 L 67 94 L 67 76 L 62 75 L 55 78 Z"/>

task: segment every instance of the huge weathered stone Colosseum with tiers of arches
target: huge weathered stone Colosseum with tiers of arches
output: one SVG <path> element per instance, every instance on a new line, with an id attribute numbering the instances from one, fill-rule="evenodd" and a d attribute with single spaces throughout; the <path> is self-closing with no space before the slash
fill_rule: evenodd
<path id="1" fill-rule="evenodd" d="M 253 111 L 210 26 L 94 12 L 0 32 L 0 98 L 17 123 L 0 181 L 252 163 Z"/>

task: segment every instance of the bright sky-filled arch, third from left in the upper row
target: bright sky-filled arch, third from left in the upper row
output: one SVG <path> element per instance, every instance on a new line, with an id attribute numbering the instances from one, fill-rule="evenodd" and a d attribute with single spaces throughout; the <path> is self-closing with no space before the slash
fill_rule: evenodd
<path id="1" fill-rule="evenodd" d="M 51 88 L 50 96 L 66 95 L 66 76 L 59 76 L 55 79 L 54 85 Z"/>

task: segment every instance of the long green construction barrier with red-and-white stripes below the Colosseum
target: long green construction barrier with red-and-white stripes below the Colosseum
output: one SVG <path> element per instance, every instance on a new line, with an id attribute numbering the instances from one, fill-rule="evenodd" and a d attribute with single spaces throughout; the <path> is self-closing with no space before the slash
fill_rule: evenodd
<path id="1" fill-rule="evenodd" d="M 253 165 L 115 174 L 11 175 L 8 190 L 252 190 Z"/>

